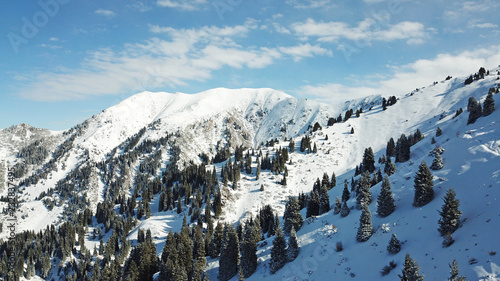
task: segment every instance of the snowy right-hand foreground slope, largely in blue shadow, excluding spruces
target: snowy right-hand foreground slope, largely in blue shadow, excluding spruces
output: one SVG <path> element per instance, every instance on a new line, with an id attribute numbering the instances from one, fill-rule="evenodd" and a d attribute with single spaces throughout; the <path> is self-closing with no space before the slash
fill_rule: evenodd
<path id="1" fill-rule="evenodd" d="M 380 218 L 376 214 L 381 184 L 371 188 L 373 203 L 369 208 L 374 234 L 367 242 L 356 241 L 361 211 L 351 209 L 349 216 L 342 218 L 332 210 L 306 221 L 297 232 L 302 247 L 300 255 L 273 275 L 269 272 L 273 238 L 267 239 L 267 246 L 259 248 L 258 269 L 247 280 L 399 280 L 406 253 L 418 262 L 425 280 L 448 280 L 448 265 L 453 259 L 468 280 L 500 280 L 500 110 L 497 105 L 492 115 L 471 125 L 466 125 L 467 112 L 454 118 L 457 109 L 467 107 L 470 96 L 484 101 L 488 89 L 498 85 L 496 76 L 465 87 L 462 81 L 456 79 L 429 86 L 402 96 L 386 111 L 380 106 L 374 107 L 360 118 L 313 134 L 318 153 L 291 154 L 294 164 L 287 166 L 290 176 L 286 187 L 268 184 L 266 195 L 255 196 L 252 192 L 262 182 L 269 181 L 243 184 L 244 190 L 237 192 L 241 195 L 234 203 L 236 212 L 231 215 L 232 220 L 264 204 L 272 204 L 282 212 L 287 195 L 310 191 L 314 180 L 321 179 L 323 172 L 337 174 L 337 186 L 329 192 L 333 208 L 335 197 L 342 195 L 344 180 L 350 183 L 354 176 L 352 168 L 361 162 L 364 148 L 372 147 L 378 159 L 385 154 L 390 137 L 397 139 L 401 133 L 408 135 L 416 129 L 426 136 L 412 147 L 411 159 L 397 164 L 396 174 L 390 177 L 396 211 L 389 217 Z M 498 95 L 495 101 L 498 104 Z M 438 126 L 444 133 L 435 137 Z M 350 127 L 355 128 L 352 135 L 348 133 Z M 433 137 L 435 144 L 431 144 Z M 433 171 L 435 198 L 424 207 L 414 207 L 414 176 L 422 161 L 430 166 L 434 157 L 429 152 L 436 147 L 444 149 L 445 166 Z M 378 166 L 383 169 L 383 165 Z M 448 188 L 456 191 L 461 202 L 463 225 L 453 234 L 455 243 L 443 248 L 443 238 L 437 231 L 438 210 Z M 352 208 L 355 202 L 352 198 L 348 205 Z M 302 214 L 305 216 L 305 210 Z M 401 252 L 396 255 L 386 250 L 392 233 L 403 242 Z M 336 252 L 337 242 L 342 242 L 342 252 Z M 389 275 L 380 276 L 379 272 L 391 261 L 395 261 L 397 267 Z M 217 261 L 212 261 L 210 267 L 213 268 L 209 270 L 211 278 L 216 278 Z"/>

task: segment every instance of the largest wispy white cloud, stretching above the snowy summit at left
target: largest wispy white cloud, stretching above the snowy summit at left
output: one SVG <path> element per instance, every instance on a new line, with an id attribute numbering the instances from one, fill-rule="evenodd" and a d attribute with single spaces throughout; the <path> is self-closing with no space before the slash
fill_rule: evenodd
<path id="1" fill-rule="evenodd" d="M 198 29 L 153 25 L 150 31 L 167 39 L 150 38 L 126 44 L 120 50 L 98 50 L 90 53 L 78 69 L 36 73 L 31 83 L 24 81 L 18 94 L 43 101 L 117 95 L 206 81 L 214 71 L 224 67 L 258 69 L 279 59 L 299 61 L 331 55 L 331 51 L 311 44 L 281 47 L 238 44 L 253 30 L 259 30 L 254 20 L 244 25 Z"/>

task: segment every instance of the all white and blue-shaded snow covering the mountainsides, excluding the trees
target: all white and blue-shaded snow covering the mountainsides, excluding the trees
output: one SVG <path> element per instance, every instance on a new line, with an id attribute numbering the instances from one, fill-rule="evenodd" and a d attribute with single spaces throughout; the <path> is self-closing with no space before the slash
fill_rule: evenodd
<path id="1" fill-rule="evenodd" d="M 372 147 L 375 159 L 378 159 L 385 154 L 387 141 L 391 137 L 397 140 L 402 133 L 408 135 L 420 129 L 425 138 L 411 148 L 409 161 L 396 164 L 396 174 L 390 177 L 396 204 L 393 214 L 386 218 L 377 216 L 376 198 L 381 184 L 371 188 L 373 202 L 369 208 L 374 234 L 367 242 L 359 243 L 355 238 L 361 211 L 353 208 L 347 217 L 341 218 L 333 215 L 332 210 L 305 221 L 304 226 L 297 231 L 301 246 L 299 256 L 276 274 L 269 273 L 273 238 L 259 243 L 259 265 L 247 280 L 397 280 L 406 253 L 420 265 L 420 272 L 425 274 L 426 280 L 446 280 L 449 276 L 448 264 L 453 259 L 457 260 L 461 274 L 470 280 L 500 280 L 498 95 L 494 96 L 496 111 L 490 116 L 479 118 L 475 124 L 466 125 L 466 111 L 454 118 L 457 109 L 466 108 L 471 95 L 484 101 L 488 89 L 497 85 L 496 79 L 496 75 L 490 75 L 467 86 L 463 85 L 465 78 L 441 81 L 399 96 L 397 103 L 385 111 L 381 108 L 380 96 L 324 105 L 295 99 L 272 89 L 218 88 L 194 95 L 143 92 L 90 118 L 88 127 L 75 140 L 75 147 L 68 158 L 62 160 L 66 170 L 59 168 L 58 172 L 52 174 L 52 179 L 23 190 L 22 198 L 26 202 L 21 204 L 19 216 L 28 216 L 20 219 L 19 228 L 39 230 L 56 222 L 62 209 L 54 208 L 48 212 L 34 198 L 83 163 L 84 160 L 79 156 L 85 149 L 89 150 L 91 160 L 101 161 L 113 148 L 155 121 L 159 122 L 157 128 L 147 130 L 141 141 L 158 139 L 165 136 L 166 132 L 177 133 L 176 144 L 183 149 L 181 157 L 186 162 L 193 160 L 199 163 L 198 154 L 201 152 L 213 156 L 218 141 L 228 142 L 228 132 L 233 136 L 233 147 L 243 144 L 256 148 L 256 151 L 262 142 L 278 138 L 280 142 L 274 147 L 261 147 L 264 155 L 269 151 L 271 156 L 279 147 L 288 146 L 288 142 L 281 141 L 284 137 L 294 137 L 296 152 L 289 155 L 292 164 L 287 164 L 287 186 L 277 184 L 282 175 L 262 171 L 259 180 L 255 174 L 242 173 L 236 190 L 223 188 L 226 196 L 221 220 L 234 224 L 243 222 L 249 215 L 255 216 L 266 204 L 270 204 L 282 216 L 287 197 L 311 191 L 316 178 L 321 179 L 324 172 L 329 176 L 335 172 L 337 176 L 337 186 L 329 192 L 333 205 L 335 197 L 341 197 L 344 180 L 350 184 L 354 176 L 353 169 L 361 162 L 365 148 Z M 363 107 L 359 118 L 353 116 L 345 123 L 326 126 L 328 117 L 343 115 L 345 110 L 359 107 Z M 318 153 L 299 152 L 301 137 L 307 133 L 308 126 L 316 121 L 323 126 L 322 130 L 311 133 L 311 141 L 316 143 Z M 438 126 L 443 134 L 435 137 Z M 354 128 L 354 134 L 350 133 L 351 128 Z M 325 140 L 325 136 L 328 136 L 328 140 Z M 432 137 L 436 139 L 435 144 L 431 144 Z M 15 160 L 13 155 L 16 148 L 6 147 L 0 146 L 0 153 Z M 444 168 L 432 171 L 435 198 L 426 206 L 413 207 L 415 172 L 422 161 L 428 165 L 432 163 L 434 157 L 429 152 L 436 147 L 444 148 Z M 169 161 L 169 155 L 164 155 L 162 159 Z M 59 167 L 61 164 L 58 163 Z M 215 165 L 218 174 L 223 164 Z M 376 166 L 378 168 L 380 164 Z M 210 171 L 213 167 L 207 165 Z M 253 163 L 254 173 L 255 168 L 256 163 Z M 264 191 L 260 190 L 261 185 Z M 441 209 L 442 198 L 450 187 L 456 191 L 461 202 L 463 225 L 453 234 L 454 244 L 443 248 L 442 237 L 437 231 L 437 210 Z M 89 192 L 94 204 L 102 200 L 104 188 L 100 181 L 93 184 L 93 190 Z M 142 219 L 140 225 L 129 233 L 128 239 L 136 240 L 138 229 L 150 229 L 157 244 L 157 253 L 160 254 L 168 232 L 180 230 L 184 213 L 176 214 L 175 210 L 157 212 L 158 199 L 157 195 L 151 202 L 152 216 Z M 349 200 L 348 205 L 355 206 L 355 199 Z M 0 207 L 3 206 L 5 203 L 0 202 Z M 187 210 L 184 212 L 187 213 Z M 305 210 L 302 210 L 302 214 L 305 217 Z M 386 251 L 392 233 L 403 242 L 401 252 L 396 255 Z M 340 241 L 344 250 L 336 252 L 335 245 Z M 87 240 L 86 246 L 93 248 L 96 243 Z M 477 263 L 471 264 L 473 259 Z M 388 276 L 381 277 L 379 272 L 393 260 L 397 267 Z M 208 260 L 207 272 L 211 280 L 217 280 L 218 259 Z M 233 280 L 237 280 L 237 277 Z"/>

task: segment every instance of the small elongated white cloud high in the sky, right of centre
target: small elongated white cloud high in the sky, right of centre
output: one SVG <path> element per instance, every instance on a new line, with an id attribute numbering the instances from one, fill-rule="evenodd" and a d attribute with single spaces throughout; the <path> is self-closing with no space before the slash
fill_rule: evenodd
<path id="1" fill-rule="evenodd" d="M 421 44 L 429 36 L 423 24 L 404 21 L 393 25 L 380 26 L 374 19 L 366 18 L 357 26 L 345 22 L 305 22 L 292 24 L 292 29 L 300 38 L 316 37 L 319 42 L 336 42 L 340 39 L 362 41 L 407 40 L 408 44 Z"/>

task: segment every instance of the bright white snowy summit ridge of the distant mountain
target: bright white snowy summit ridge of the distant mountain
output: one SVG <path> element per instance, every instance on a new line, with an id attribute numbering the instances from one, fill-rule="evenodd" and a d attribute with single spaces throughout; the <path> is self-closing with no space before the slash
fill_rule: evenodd
<path id="1" fill-rule="evenodd" d="M 156 121 L 156 130 L 146 137 L 179 133 L 183 144 L 193 145 L 189 149 L 193 159 L 227 136 L 234 147 L 257 146 L 273 137 L 303 133 L 312 121 L 329 114 L 333 110 L 327 105 L 297 100 L 272 89 L 218 88 L 193 95 L 143 92 L 89 119 L 77 143 L 90 150 L 91 159 L 102 160 L 128 137 Z"/>

